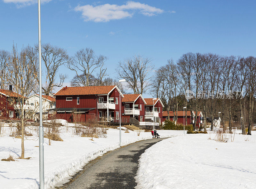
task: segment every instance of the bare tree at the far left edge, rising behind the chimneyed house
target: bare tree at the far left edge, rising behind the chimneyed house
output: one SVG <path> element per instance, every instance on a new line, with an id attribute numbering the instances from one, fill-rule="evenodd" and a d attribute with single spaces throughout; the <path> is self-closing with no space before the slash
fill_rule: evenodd
<path id="1" fill-rule="evenodd" d="M 0 88 L 4 89 L 6 87 L 6 75 L 7 75 L 7 64 L 9 60 L 10 53 L 5 50 L 0 50 Z"/>

